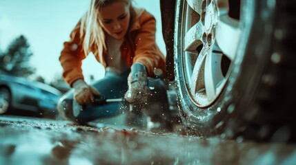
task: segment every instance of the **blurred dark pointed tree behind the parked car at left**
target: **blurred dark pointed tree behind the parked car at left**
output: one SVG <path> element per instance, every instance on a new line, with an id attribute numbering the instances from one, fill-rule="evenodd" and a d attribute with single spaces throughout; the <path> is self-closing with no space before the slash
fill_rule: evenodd
<path id="1" fill-rule="evenodd" d="M 29 65 L 33 55 L 25 36 L 14 39 L 6 52 L 0 54 L 0 69 L 14 76 L 27 77 L 35 72 L 35 68 Z"/>

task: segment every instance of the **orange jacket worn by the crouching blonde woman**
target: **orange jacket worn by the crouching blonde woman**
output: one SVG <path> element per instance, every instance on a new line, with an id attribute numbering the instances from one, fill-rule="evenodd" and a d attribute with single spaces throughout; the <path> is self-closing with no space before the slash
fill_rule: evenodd
<path id="1" fill-rule="evenodd" d="M 81 61 L 86 58 L 79 38 L 80 21 L 70 34 L 70 41 L 63 43 L 63 50 L 59 61 L 63 67 L 63 78 L 71 85 L 75 80 L 82 78 Z M 126 34 L 124 43 L 121 45 L 121 56 L 125 59 L 129 67 L 133 63 L 142 63 L 146 66 L 148 76 L 153 76 L 155 68 L 162 69 L 165 73 L 165 58 L 155 43 L 156 20 L 152 14 L 141 12 L 136 16 L 130 30 Z M 95 47 L 94 45 L 92 47 Z M 98 51 L 92 49 L 95 58 L 106 68 L 108 67 L 105 61 L 107 56 L 103 51 L 103 59 L 99 59 Z"/>

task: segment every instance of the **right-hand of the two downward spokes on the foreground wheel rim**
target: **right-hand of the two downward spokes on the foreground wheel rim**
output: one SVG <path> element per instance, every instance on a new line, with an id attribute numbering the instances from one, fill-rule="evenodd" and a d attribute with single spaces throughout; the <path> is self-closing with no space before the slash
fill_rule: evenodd
<path id="1" fill-rule="evenodd" d="M 206 87 L 206 96 L 209 101 L 215 99 L 217 96 L 217 88 L 224 76 L 221 71 L 221 58 L 223 54 L 210 52 L 206 56 L 205 63 L 205 87 Z"/>

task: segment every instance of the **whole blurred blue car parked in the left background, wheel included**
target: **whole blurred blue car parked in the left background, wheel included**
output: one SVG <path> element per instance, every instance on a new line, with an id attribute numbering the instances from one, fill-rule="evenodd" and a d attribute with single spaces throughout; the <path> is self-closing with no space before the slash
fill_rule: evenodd
<path id="1" fill-rule="evenodd" d="M 0 114 L 55 116 L 61 92 L 44 83 L 0 75 Z"/>

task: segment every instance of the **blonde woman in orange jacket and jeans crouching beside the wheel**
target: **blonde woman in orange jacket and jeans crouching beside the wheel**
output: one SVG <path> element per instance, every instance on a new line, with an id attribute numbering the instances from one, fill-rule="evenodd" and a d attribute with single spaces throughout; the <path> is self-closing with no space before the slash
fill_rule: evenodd
<path id="1" fill-rule="evenodd" d="M 118 113 L 103 113 L 109 109 L 108 104 L 92 107 L 95 97 L 124 97 L 132 104 L 147 103 L 147 76 L 153 77 L 155 69 L 165 73 L 164 55 L 155 43 L 155 31 L 155 18 L 143 9 L 133 8 L 130 0 L 92 0 L 59 57 L 63 78 L 74 90 L 61 98 L 59 112 L 71 120 L 88 122 Z M 106 68 L 105 77 L 92 85 L 83 80 L 81 70 L 81 61 L 90 52 Z M 70 103 L 66 103 L 73 96 L 77 103 L 88 105 L 74 117 Z"/>

